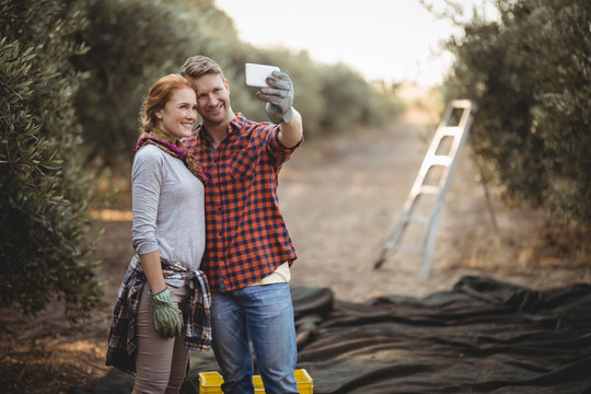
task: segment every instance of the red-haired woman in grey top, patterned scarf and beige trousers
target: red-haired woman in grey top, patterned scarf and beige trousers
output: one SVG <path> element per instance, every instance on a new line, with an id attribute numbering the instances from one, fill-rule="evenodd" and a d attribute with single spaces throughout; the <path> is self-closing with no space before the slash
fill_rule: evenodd
<path id="1" fill-rule="evenodd" d="M 134 393 L 177 393 L 188 350 L 211 344 L 204 184 L 181 139 L 197 120 L 195 91 L 181 76 L 154 83 L 140 112 L 131 170 L 136 256 L 119 289 L 107 366 L 136 376 Z"/>

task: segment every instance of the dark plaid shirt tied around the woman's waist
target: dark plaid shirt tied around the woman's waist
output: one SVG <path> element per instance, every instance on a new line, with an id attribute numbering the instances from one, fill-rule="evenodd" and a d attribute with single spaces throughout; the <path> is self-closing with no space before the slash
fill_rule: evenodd
<path id="1" fill-rule="evenodd" d="M 189 300 L 183 311 L 185 320 L 184 345 L 189 350 L 209 350 L 211 348 L 211 294 L 207 277 L 202 271 L 188 270 L 179 263 L 161 260 L 164 280 L 181 279 L 189 287 Z M 127 273 L 119 288 L 108 334 L 106 366 L 114 366 L 121 371 L 136 372 L 136 313 L 146 276 L 139 257 L 131 258 Z"/>

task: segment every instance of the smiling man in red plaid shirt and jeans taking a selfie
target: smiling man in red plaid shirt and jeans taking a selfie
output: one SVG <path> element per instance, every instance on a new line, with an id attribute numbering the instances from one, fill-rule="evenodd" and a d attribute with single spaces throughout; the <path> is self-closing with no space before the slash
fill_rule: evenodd
<path id="1" fill-rule="evenodd" d="M 229 82 L 210 58 L 188 58 L 181 73 L 193 83 L 202 118 L 184 143 L 210 177 L 201 269 L 211 288 L 212 348 L 222 391 L 254 393 L 251 340 L 266 393 L 297 393 L 288 286 L 297 255 L 277 199 L 281 165 L 303 139 L 291 80 L 281 71 L 267 79 L 270 88 L 257 96 L 267 102 L 273 124 L 258 124 L 234 114 Z"/>

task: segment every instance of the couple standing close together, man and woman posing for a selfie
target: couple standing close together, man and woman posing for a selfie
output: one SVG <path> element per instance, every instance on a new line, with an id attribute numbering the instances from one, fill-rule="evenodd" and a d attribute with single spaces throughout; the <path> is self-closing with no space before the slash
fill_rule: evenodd
<path id="1" fill-rule="evenodd" d="M 290 78 L 275 71 L 267 82 L 257 96 L 273 123 L 234 114 L 228 80 L 205 56 L 160 79 L 142 104 L 131 174 L 137 254 L 107 351 L 107 366 L 136 376 L 134 393 L 177 393 L 188 350 L 210 346 L 223 392 L 254 393 L 251 341 L 266 392 L 298 392 L 288 286 L 297 256 L 277 178 L 303 139 L 302 118 Z"/>

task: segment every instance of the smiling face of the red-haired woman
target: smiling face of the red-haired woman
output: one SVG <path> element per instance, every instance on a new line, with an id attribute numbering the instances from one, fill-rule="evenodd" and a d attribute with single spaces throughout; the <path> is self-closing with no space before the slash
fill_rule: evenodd
<path id="1" fill-rule="evenodd" d="M 193 132 L 197 121 L 197 99 L 190 88 L 181 88 L 173 92 L 164 108 L 155 113 L 157 127 L 171 137 L 185 138 Z"/>

